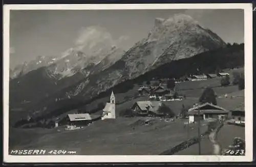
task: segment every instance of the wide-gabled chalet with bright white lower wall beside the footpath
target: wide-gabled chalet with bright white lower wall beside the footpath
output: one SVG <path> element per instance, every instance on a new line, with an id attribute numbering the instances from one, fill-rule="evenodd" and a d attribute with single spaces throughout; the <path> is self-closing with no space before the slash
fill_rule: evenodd
<path id="1" fill-rule="evenodd" d="M 229 111 L 211 103 L 204 103 L 194 105 L 193 108 L 188 109 L 189 123 L 194 123 L 198 119 L 225 119 L 228 116 Z"/>

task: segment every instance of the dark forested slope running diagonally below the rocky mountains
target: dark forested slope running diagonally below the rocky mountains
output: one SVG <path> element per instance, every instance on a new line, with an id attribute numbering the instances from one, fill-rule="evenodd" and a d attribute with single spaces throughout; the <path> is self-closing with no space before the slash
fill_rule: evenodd
<path id="1" fill-rule="evenodd" d="M 98 96 L 95 96 L 91 99 L 90 97 L 75 96 L 73 98 L 54 101 L 55 98 L 58 97 L 60 93 L 65 94 L 66 90 L 63 89 L 57 92 L 56 94 L 54 94 L 53 96 L 49 96 L 48 98 L 45 98 L 39 103 L 34 104 L 33 106 L 31 106 L 31 108 L 34 108 L 34 109 L 36 108 L 35 110 L 38 110 L 39 112 L 38 116 L 42 116 L 42 118 L 52 118 L 53 116 L 58 116 L 72 109 L 78 109 L 92 102 L 93 102 L 92 103 L 93 108 L 95 108 L 99 102 L 106 102 L 105 100 L 109 99 L 109 95 L 111 94 L 112 90 L 117 95 L 117 100 L 118 101 L 122 100 L 122 98 L 120 98 L 118 94 L 121 94 L 121 96 L 123 97 L 127 96 L 128 94 L 134 95 L 135 93 L 134 91 L 137 90 L 136 88 L 134 88 L 135 84 L 140 84 L 142 81 L 152 80 L 152 78 L 161 78 L 161 77 L 166 78 L 166 77 L 170 77 L 170 75 L 174 75 L 175 77 L 182 77 L 185 74 L 198 72 L 197 69 L 200 69 L 201 73 L 206 71 L 214 73 L 215 70 L 218 68 L 227 69 L 227 68 L 235 68 L 240 66 L 244 66 L 244 45 L 243 44 L 234 45 L 231 47 L 226 47 L 226 48 L 218 49 L 215 51 L 207 51 L 207 52 L 195 55 L 195 57 L 192 57 L 192 58 L 173 61 L 169 64 L 162 65 L 156 68 L 155 70 L 147 72 L 135 79 L 126 80 L 114 86 L 113 88 L 100 93 Z M 180 67 L 183 67 L 183 68 L 180 68 Z M 169 71 L 169 72 L 163 73 L 161 71 Z M 217 84 L 215 83 L 216 81 L 218 82 Z M 203 86 L 208 85 L 207 83 L 211 81 L 207 80 L 205 82 L 206 82 L 205 84 L 202 83 Z M 209 83 L 209 84 L 211 85 L 213 84 L 214 86 L 220 86 L 220 81 L 218 81 L 218 79 L 215 80 L 215 82 Z M 203 86 L 200 86 L 200 84 L 196 84 L 196 83 L 197 82 L 195 83 L 191 82 L 191 86 L 189 86 L 189 84 L 187 85 L 187 83 L 180 83 L 180 85 L 177 85 L 177 89 L 179 89 L 179 93 L 184 93 L 184 91 L 182 90 L 190 89 L 188 91 L 185 91 L 186 92 L 185 94 L 189 97 L 189 94 L 187 93 L 196 92 L 197 98 L 198 98 L 198 96 L 201 95 L 201 89 L 203 89 L 202 88 Z M 232 90 L 233 89 L 238 90 L 237 86 L 231 86 L 231 87 L 230 89 Z M 221 90 L 229 90 L 229 88 L 221 88 Z M 230 91 L 226 93 L 230 93 Z M 103 99 L 103 101 L 100 99 Z M 43 108 L 46 108 L 46 109 L 43 109 Z"/>

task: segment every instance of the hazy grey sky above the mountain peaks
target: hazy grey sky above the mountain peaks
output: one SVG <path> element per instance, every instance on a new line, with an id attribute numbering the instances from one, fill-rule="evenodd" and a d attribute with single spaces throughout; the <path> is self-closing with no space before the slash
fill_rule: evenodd
<path id="1" fill-rule="evenodd" d="M 111 41 L 127 50 L 147 37 L 155 18 L 178 13 L 190 15 L 225 42 L 244 42 L 244 12 L 240 9 L 16 10 L 10 12 L 10 68 L 39 55 L 60 56 L 84 42 L 81 38 L 86 38 L 84 33 L 92 26 L 103 27 Z"/>

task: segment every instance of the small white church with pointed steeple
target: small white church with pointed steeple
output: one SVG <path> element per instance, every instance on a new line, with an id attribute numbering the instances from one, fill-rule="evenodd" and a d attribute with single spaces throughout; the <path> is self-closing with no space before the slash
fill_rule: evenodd
<path id="1" fill-rule="evenodd" d="M 116 119 L 116 99 L 113 91 L 110 96 L 110 102 L 106 103 L 105 107 L 103 108 L 101 120 L 104 119 Z"/>

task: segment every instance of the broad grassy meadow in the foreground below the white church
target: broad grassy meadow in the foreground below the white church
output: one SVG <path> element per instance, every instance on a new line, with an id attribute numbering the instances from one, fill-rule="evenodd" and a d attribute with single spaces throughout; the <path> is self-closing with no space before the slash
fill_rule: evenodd
<path id="1" fill-rule="evenodd" d="M 145 119 L 98 121 L 74 131 L 61 127 L 13 129 L 16 133 L 10 136 L 11 149 L 75 149 L 82 155 L 157 155 L 187 139 L 187 129 L 181 120 L 165 122 L 156 118 L 151 126 L 141 125 Z M 206 128 L 202 126 L 201 131 Z M 190 137 L 195 135 L 198 135 L 197 128 L 189 131 Z"/>

